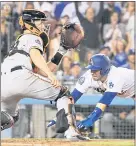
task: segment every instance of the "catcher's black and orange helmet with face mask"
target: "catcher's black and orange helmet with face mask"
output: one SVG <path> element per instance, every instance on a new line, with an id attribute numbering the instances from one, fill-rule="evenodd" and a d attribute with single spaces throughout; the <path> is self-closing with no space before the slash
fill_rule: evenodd
<path id="1" fill-rule="evenodd" d="M 35 21 L 37 20 L 45 22 L 44 31 L 39 30 L 35 25 Z M 34 9 L 26 9 L 19 18 L 19 24 L 22 29 L 27 29 L 31 31 L 32 34 L 40 36 L 43 40 L 44 47 L 48 45 L 50 24 L 47 23 L 47 16 L 43 12 Z"/>

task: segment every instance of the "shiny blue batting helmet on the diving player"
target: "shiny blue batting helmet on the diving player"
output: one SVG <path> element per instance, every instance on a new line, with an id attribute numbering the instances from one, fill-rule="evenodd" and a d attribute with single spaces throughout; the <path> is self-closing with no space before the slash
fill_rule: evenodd
<path id="1" fill-rule="evenodd" d="M 111 68 L 110 59 L 103 54 L 93 55 L 90 59 L 89 65 L 86 67 L 92 71 L 100 70 L 100 74 L 105 76 L 109 73 Z"/>

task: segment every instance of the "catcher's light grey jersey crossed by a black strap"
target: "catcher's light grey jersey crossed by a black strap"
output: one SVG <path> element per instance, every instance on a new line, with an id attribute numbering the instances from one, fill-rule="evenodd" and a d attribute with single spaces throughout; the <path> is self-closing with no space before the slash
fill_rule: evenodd
<path id="1" fill-rule="evenodd" d="M 27 53 L 30 52 L 31 48 L 38 48 L 41 52 L 43 52 L 42 39 L 33 34 L 24 34 L 19 39 L 17 39 L 13 47 L 15 50 L 24 50 Z M 15 66 L 24 66 L 27 69 L 32 70 L 30 57 L 20 53 L 15 53 L 14 55 L 8 56 L 2 63 L 2 71 L 8 71 L 8 69 L 10 70 Z"/>

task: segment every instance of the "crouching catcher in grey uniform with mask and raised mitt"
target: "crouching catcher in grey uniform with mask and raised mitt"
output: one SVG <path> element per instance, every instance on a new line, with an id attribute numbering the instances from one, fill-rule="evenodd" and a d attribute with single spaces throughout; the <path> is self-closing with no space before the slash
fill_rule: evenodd
<path id="1" fill-rule="evenodd" d="M 69 90 L 60 85 L 53 71 L 67 50 L 78 46 L 84 32 L 77 24 L 63 26 L 60 31 L 60 48 L 51 61 L 46 63 L 43 56 L 51 41 L 47 22 L 43 12 L 31 9 L 24 10 L 19 19 L 23 34 L 18 37 L 1 67 L 1 130 L 10 128 L 18 120 L 18 102 L 27 97 L 56 101 L 57 132 L 67 131 L 67 138 L 80 139 L 73 126 L 69 106 L 73 104 L 73 99 Z"/>

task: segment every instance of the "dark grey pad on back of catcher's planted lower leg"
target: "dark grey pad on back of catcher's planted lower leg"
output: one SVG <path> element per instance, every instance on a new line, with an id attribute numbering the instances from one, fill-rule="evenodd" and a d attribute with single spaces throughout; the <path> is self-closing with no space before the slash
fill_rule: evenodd
<path id="1" fill-rule="evenodd" d="M 56 117 L 56 132 L 64 133 L 69 128 L 68 119 L 64 108 L 58 111 Z"/>

